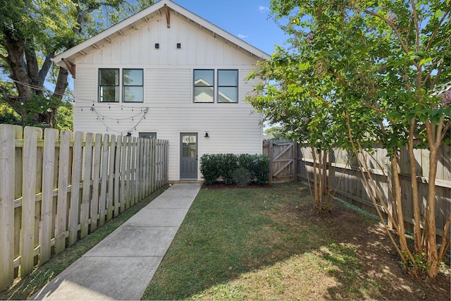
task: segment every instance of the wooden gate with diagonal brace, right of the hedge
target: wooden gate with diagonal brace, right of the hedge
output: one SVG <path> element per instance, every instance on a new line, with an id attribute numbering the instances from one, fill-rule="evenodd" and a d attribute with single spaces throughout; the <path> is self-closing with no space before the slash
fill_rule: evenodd
<path id="1" fill-rule="evenodd" d="M 297 149 L 295 141 L 264 140 L 263 154 L 271 159 L 270 183 L 296 180 Z"/>

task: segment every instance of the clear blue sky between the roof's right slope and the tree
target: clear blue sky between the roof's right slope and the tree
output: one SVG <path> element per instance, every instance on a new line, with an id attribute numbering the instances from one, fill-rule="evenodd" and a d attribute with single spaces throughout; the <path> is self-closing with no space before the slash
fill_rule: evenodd
<path id="1" fill-rule="evenodd" d="M 288 38 L 269 18 L 269 0 L 172 1 L 270 55 Z"/>

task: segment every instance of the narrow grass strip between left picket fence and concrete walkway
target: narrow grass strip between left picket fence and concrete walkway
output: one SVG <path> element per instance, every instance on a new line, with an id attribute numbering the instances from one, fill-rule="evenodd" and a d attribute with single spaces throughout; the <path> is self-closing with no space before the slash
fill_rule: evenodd
<path id="1" fill-rule="evenodd" d="M 165 186 L 159 190 L 156 190 L 156 192 L 149 195 L 149 197 L 124 211 L 123 214 L 120 214 L 115 219 L 105 223 L 104 226 L 98 228 L 93 233 L 90 233 L 87 237 L 79 240 L 60 254 L 52 257 L 49 262 L 43 264 L 42 266 L 37 266 L 30 275 L 25 276 L 24 278 L 16 279 L 10 288 L 0 294 L 0 300 L 26 300 L 28 297 L 31 297 L 34 293 L 51 281 L 52 278 L 70 266 L 70 264 L 75 262 L 75 260 L 82 257 L 82 255 L 87 251 L 92 249 L 94 245 L 97 245 L 97 243 L 106 238 L 106 236 L 149 204 L 149 202 L 152 202 L 153 199 L 161 195 L 161 193 L 167 188 L 168 187 Z"/>

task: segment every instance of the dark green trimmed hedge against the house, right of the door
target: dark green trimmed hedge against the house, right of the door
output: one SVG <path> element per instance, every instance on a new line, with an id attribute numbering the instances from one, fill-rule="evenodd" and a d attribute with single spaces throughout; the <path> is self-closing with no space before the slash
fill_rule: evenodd
<path id="1" fill-rule="evenodd" d="M 252 180 L 264 185 L 269 180 L 269 158 L 261 154 L 204 154 L 200 164 L 207 185 L 216 183 L 219 176 L 227 185 L 247 185 Z"/>

